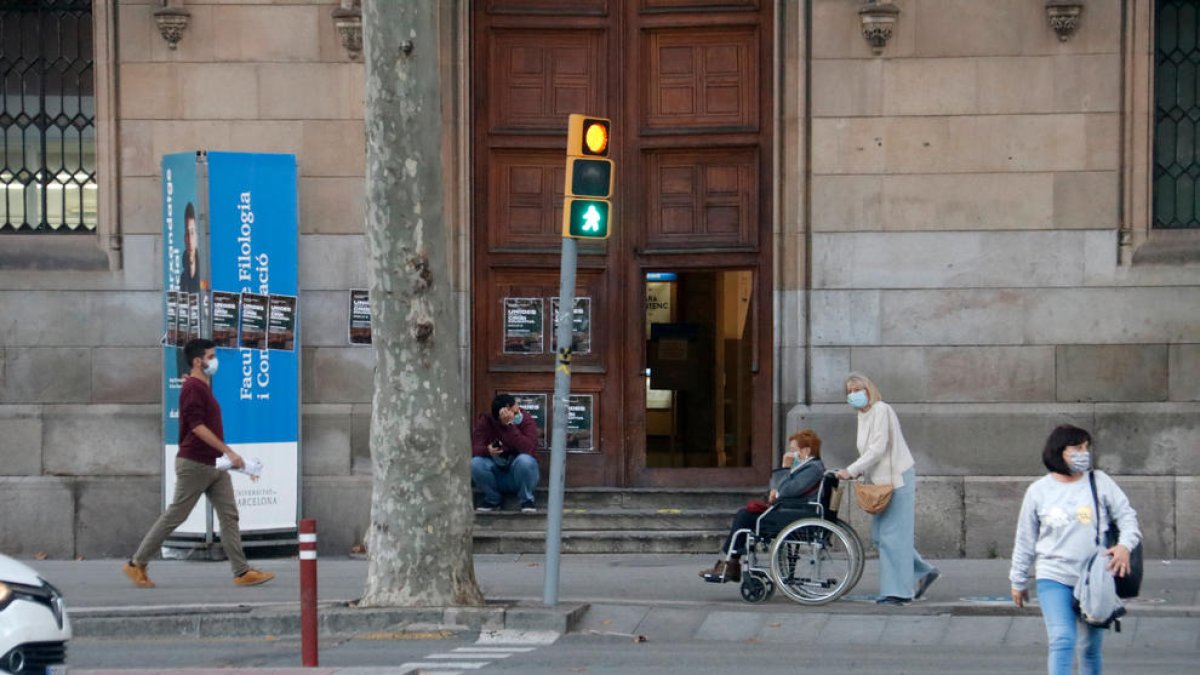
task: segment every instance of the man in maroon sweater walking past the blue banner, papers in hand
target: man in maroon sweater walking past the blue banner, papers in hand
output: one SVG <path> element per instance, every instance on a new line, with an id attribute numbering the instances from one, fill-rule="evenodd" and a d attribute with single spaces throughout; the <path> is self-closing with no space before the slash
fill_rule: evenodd
<path id="1" fill-rule="evenodd" d="M 246 563 L 241 549 L 241 531 L 238 528 L 238 501 L 233 492 L 233 480 L 228 471 L 216 467 L 217 458 L 226 455 L 234 468 L 245 466 L 241 456 L 224 442 L 221 425 L 221 406 L 212 396 L 212 375 L 217 371 L 217 357 L 212 340 L 198 338 L 184 347 L 191 371 L 184 377 L 179 392 L 179 454 L 175 455 L 175 496 L 170 506 L 142 539 L 138 552 L 121 568 L 139 589 L 154 589 L 146 575 L 150 556 L 161 546 L 168 534 L 179 527 L 192 508 L 206 495 L 221 521 L 221 545 L 233 566 L 233 583 L 239 586 L 265 584 L 275 578 L 270 572 L 253 569 Z"/>

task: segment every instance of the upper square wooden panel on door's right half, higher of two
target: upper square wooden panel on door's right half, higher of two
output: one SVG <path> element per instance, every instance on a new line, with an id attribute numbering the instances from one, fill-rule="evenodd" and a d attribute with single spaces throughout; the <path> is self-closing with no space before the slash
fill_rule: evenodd
<path id="1" fill-rule="evenodd" d="M 644 133 L 758 130 L 756 26 L 650 29 L 643 41 Z"/>

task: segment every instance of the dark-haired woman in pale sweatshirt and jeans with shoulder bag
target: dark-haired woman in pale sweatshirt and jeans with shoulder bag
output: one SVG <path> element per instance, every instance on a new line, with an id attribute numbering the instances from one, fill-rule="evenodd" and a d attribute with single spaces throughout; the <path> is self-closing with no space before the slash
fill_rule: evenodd
<path id="1" fill-rule="evenodd" d="M 1025 491 L 1021 515 L 1013 543 L 1013 566 L 1008 579 L 1013 584 L 1013 602 L 1024 607 L 1030 597 L 1030 567 L 1037 558 L 1038 603 L 1046 626 L 1050 675 L 1070 675 L 1075 657 L 1079 621 L 1072 605 L 1075 581 L 1084 561 L 1096 550 L 1096 525 L 1099 531 L 1116 521 L 1121 540 L 1105 552 L 1111 556 L 1110 572 L 1124 577 L 1129 572 L 1129 551 L 1141 540 L 1138 513 L 1129 506 L 1121 488 L 1103 471 L 1093 471 L 1096 500 L 1087 472 L 1092 468 L 1092 437 L 1078 426 L 1064 424 L 1050 432 L 1042 449 L 1042 464 L 1050 473 Z M 1100 504 L 1096 513 L 1094 504 Z M 1087 626 L 1084 632 L 1082 675 L 1099 675 L 1104 629 Z"/>

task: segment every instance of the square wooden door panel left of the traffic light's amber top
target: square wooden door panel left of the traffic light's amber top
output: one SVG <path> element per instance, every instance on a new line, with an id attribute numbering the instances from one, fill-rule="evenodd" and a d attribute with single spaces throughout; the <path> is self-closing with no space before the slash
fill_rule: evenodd
<path id="1" fill-rule="evenodd" d="M 566 115 L 607 112 L 600 30 L 496 30 L 487 92 L 493 133 L 560 131 Z"/>

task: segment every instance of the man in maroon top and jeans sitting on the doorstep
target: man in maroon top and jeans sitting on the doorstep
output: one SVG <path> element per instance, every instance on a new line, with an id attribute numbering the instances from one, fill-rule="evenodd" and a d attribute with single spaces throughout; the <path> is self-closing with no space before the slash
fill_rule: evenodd
<path id="1" fill-rule="evenodd" d="M 538 423 L 521 412 L 511 394 L 492 399 L 492 413 L 479 413 L 470 431 L 470 480 L 484 492 L 476 512 L 500 508 L 504 495 L 521 498 L 521 512 L 536 510 L 533 490 L 540 472 L 538 458 Z"/>

